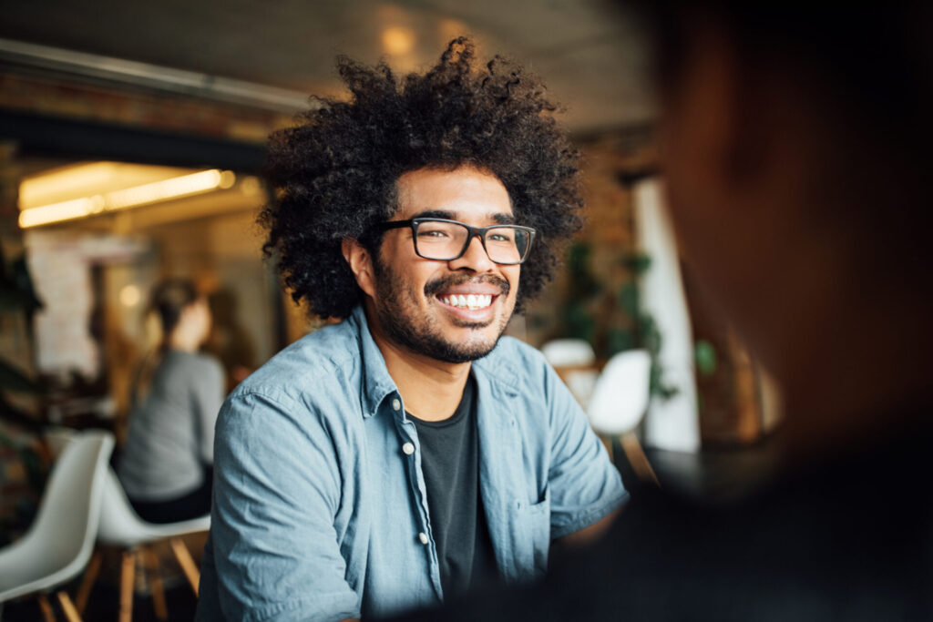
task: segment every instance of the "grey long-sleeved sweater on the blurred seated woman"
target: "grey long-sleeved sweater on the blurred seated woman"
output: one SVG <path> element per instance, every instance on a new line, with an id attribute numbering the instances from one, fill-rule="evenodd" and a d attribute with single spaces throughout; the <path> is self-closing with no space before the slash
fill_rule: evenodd
<path id="1" fill-rule="evenodd" d="M 198 489 L 202 464 L 214 462 L 214 424 L 224 399 L 214 357 L 170 350 L 149 392 L 132 406 L 117 473 L 136 501 L 161 502 Z"/>

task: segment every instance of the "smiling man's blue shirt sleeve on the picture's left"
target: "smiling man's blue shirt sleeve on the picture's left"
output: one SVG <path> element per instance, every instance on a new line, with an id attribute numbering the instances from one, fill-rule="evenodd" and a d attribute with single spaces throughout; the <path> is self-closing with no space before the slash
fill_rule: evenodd
<path id="1" fill-rule="evenodd" d="M 261 394 L 228 400 L 217 422 L 211 532 L 230 620 L 359 616 L 333 518 L 341 474 L 307 407 Z"/>

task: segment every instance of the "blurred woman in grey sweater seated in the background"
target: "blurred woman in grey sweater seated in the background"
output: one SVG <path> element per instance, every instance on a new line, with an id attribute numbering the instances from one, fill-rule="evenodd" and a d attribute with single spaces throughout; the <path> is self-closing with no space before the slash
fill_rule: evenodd
<path id="1" fill-rule="evenodd" d="M 193 283 L 173 279 L 153 292 L 162 338 L 132 386 L 130 429 L 118 476 L 140 518 L 174 522 L 211 509 L 214 423 L 224 373 L 198 352 L 211 327 Z"/>

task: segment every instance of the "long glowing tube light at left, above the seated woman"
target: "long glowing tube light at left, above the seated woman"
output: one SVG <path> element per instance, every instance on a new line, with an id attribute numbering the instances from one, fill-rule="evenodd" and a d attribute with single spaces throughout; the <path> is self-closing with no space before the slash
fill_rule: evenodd
<path id="1" fill-rule="evenodd" d="M 21 211 L 20 227 L 30 228 L 48 225 L 49 223 L 73 220 L 92 214 L 115 212 L 130 207 L 158 203 L 163 200 L 179 199 L 216 189 L 227 189 L 233 187 L 235 181 L 236 175 L 232 172 L 211 169 L 210 171 L 191 173 L 151 184 L 143 184 L 142 186 L 114 190 L 92 197 L 40 205 Z"/>

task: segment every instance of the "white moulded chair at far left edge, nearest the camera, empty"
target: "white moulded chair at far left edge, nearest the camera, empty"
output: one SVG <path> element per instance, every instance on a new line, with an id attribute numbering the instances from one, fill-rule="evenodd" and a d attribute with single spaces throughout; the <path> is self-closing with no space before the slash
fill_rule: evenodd
<path id="1" fill-rule="evenodd" d="M 38 593 L 46 619 L 54 619 L 48 593 L 77 576 L 91 559 L 113 447 L 113 435 L 101 431 L 77 435 L 64 447 L 29 531 L 0 550 L 0 606 Z M 67 592 L 57 596 L 65 616 L 80 620 Z"/>

